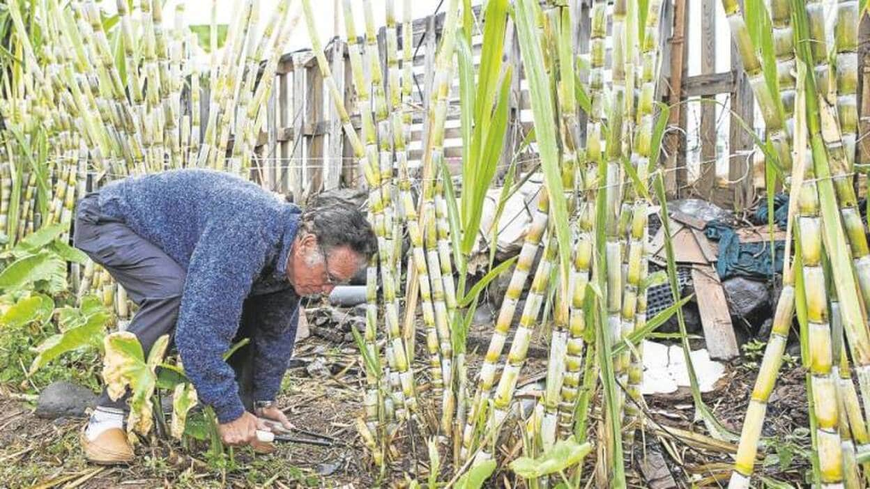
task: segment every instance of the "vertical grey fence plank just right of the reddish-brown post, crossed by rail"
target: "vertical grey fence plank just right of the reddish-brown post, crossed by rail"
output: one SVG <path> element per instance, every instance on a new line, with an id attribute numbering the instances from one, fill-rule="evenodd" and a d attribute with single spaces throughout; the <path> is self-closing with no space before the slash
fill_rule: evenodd
<path id="1" fill-rule="evenodd" d="M 701 1 L 701 74 L 716 71 L 716 0 Z M 730 91 L 730 90 L 728 90 Z M 701 161 L 694 191 L 701 197 L 712 199 L 716 181 L 716 106 L 709 102 L 712 96 L 701 97 L 699 139 Z"/>

